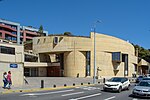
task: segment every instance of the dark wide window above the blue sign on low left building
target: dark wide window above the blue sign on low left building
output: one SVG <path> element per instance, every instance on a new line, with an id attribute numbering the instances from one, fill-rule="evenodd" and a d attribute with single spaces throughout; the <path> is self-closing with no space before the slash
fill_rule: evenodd
<path id="1" fill-rule="evenodd" d="M 0 53 L 15 55 L 15 48 L 0 46 Z"/>

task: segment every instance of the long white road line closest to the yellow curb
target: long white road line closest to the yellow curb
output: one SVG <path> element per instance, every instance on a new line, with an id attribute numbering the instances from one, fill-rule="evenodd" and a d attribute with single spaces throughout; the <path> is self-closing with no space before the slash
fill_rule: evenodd
<path id="1" fill-rule="evenodd" d="M 54 92 L 46 92 L 46 93 L 28 93 L 28 94 L 22 94 L 20 96 L 36 96 L 36 95 L 38 96 L 38 95 L 47 95 L 47 94 L 70 92 L 70 91 L 74 91 L 74 89 L 63 90 L 63 91 L 54 91 Z"/>

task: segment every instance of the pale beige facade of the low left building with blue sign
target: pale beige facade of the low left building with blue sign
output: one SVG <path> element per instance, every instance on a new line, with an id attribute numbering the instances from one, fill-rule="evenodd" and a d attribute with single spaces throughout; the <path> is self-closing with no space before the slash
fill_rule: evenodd
<path id="1" fill-rule="evenodd" d="M 11 51 L 8 49 L 12 48 L 14 52 L 10 53 Z M 3 50 L 8 50 L 8 52 L 4 52 Z M 12 85 L 22 85 L 24 73 L 23 63 L 24 47 L 22 45 L 0 42 L 0 86 L 3 85 L 3 73 L 8 71 L 11 71 L 12 73 Z"/>

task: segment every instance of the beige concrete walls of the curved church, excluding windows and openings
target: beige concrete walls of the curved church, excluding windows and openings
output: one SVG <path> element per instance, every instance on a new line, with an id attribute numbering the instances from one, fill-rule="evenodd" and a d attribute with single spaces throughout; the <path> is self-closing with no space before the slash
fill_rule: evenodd
<path id="1" fill-rule="evenodd" d="M 53 43 L 54 37 L 58 37 L 58 44 Z M 33 49 L 36 53 L 64 53 L 64 74 L 72 77 L 76 77 L 77 73 L 85 77 L 86 58 L 83 52 L 90 51 L 91 77 L 93 77 L 94 33 L 91 33 L 90 37 L 37 37 L 34 39 Z M 98 74 L 102 77 L 124 76 L 124 62 L 120 62 L 118 70 L 114 71 L 114 66 L 117 65 L 112 63 L 112 52 L 128 54 L 128 74 L 131 76 L 134 72 L 134 64 L 137 64 L 133 45 L 113 36 L 96 33 L 96 66 L 100 68 Z"/>

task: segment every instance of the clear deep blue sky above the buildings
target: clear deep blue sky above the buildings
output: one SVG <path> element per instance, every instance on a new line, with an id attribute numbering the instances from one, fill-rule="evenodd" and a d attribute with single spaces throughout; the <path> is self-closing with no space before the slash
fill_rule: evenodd
<path id="1" fill-rule="evenodd" d="M 49 34 L 96 32 L 150 49 L 150 0 L 0 0 L 0 18 Z"/>

